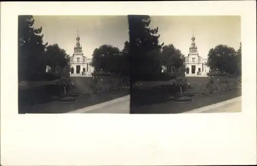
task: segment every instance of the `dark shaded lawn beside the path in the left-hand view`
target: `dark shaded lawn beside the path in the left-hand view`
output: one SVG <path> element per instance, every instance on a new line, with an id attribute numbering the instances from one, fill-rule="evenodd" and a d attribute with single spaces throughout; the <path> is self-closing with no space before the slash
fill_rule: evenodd
<path id="1" fill-rule="evenodd" d="M 63 96 L 63 89 L 57 85 L 19 89 L 19 113 L 66 113 L 130 94 L 128 88 L 119 88 L 108 92 L 102 91 L 97 94 L 85 93 L 83 89 L 88 87 L 93 78 L 81 78 L 83 79 L 76 80 L 79 80 L 83 87 L 74 86 L 70 89 L 68 95 L 75 97 L 76 101 L 69 103 L 58 101 Z M 98 84 L 99 87 L 101 88 L 101 84 Z"/>

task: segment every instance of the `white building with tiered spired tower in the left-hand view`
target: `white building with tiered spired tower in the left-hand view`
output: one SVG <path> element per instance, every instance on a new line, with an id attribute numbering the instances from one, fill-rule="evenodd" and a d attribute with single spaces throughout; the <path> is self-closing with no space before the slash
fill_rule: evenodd
<path id="1" fill-rule="evenodd" d="M 85 73 L 85 75 L 90 75 L 94 72 L 94 68 L 91 66 L 91 59 L 87 58 L 83 54 L 79 34 L 77 35 L 76 40 L 74 53 L 72 56 L 70 56 L 70 75 L 82 73 Z"/>

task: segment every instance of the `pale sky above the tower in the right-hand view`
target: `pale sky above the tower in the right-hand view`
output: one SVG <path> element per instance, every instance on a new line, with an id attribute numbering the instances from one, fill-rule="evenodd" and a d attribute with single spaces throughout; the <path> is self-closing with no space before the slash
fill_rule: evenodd
<path id="1" fill-rule="evenodd" d="M 199 56 L 218 44 L 235 50 L 241 42 L 240 16 L 151 16 L 151 28 L 159 28 L 160 43 L 173 44 L 182 54 L 188 55 L 194 33 Z"/>

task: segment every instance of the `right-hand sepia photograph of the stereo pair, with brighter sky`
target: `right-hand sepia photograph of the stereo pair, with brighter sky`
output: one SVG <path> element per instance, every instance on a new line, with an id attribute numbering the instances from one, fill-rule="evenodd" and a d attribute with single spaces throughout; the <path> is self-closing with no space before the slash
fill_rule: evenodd
<path id="1" fill-rule="evenodd" d="M 132 114 L 241 112 L 241 17 L 131 15 Z"/>

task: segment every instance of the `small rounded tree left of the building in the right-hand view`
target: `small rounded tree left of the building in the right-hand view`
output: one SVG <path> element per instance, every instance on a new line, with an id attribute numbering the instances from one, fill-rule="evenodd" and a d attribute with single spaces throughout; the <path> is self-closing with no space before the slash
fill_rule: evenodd
<path id="1" fill-rule="evenodd" d="M 180 68 L 185 62 L 185 56 L 179 49 L 176 49 L 173 44 L 162 47 L 161 50 L 161 65 L 167 69 L 170 66 Z"/>

